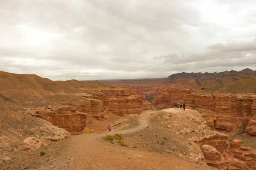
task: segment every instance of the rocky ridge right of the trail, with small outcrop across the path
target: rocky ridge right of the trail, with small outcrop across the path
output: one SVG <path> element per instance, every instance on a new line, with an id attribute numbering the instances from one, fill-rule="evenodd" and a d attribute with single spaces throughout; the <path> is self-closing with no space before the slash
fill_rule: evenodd
<path id="1" fill-rule="evenodd" d="M 136 115 L 114 122 L 112 130 L 129 129 Z M 256 150 L 241 146 L 241 140 L 211 130 L 197 111 L 164 109 L 144 130 L 125 135 L 125 144 L 136 150 L 175 155 L 221 170 L 254 170 Z"/>

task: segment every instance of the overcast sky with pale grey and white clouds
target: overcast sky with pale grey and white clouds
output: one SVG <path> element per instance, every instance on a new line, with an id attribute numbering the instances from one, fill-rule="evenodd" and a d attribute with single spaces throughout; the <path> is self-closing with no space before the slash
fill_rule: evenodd
<path id="1" fill-rule="evenodd" d="M 0 0 L 0 71 L 52 80 L 256 70 L 256 0 Z"/>

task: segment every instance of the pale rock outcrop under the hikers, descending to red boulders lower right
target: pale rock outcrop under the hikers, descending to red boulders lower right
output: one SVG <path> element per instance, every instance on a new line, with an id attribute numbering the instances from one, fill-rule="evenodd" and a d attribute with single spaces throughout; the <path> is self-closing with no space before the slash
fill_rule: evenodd
<path id="1" fill-rule="evenodd" d="M 162 111 L 167 113 L 163 117 L 169 119 L 167 122 L 161 120 L 163 124 L 167 124 L 184 139 L 198 144 L 209 166 L 221 170 L 255 170 L 256 150 L 241 146 L 242 141 L 238 139 L 233 140 L 228 147 L 229 136 L 210 130 L 199 112 L 190 109 L 180 112 L 173 108 Z M 172 122 L 172 125 L 168 122 Z"/>

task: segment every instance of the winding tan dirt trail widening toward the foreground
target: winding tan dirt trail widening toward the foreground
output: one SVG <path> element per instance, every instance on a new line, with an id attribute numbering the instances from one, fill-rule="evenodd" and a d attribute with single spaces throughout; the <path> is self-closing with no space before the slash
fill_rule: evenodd
<path id="1" fill-rule="evenodd" d="M 163 156 L 159 153 L 133 150 L 102 142 L 102 136 L 115 133 L 132 133 L 149 125 L 160 111 L 144 111 L 139 116 L 137 127 L 104 133 L 87 133 L 72 136 L 68 147 L 58 158 L 49 161 L 40 169 L 49 170 L 211 170 L 191 161 Z"/>

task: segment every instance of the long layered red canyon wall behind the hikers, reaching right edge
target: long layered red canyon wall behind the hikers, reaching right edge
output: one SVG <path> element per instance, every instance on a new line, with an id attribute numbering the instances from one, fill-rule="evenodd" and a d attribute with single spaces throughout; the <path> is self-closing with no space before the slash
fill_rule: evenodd
<path id="1" fill-rule="evenodd" d="M 256 114 L 255 94 L 209 94 L 191 89 L 169 88 L 159 92 L 154 105 L 174 107 L 175 103 L 185 103 L 186 107 L 209 109 L 216 113 L 218 120 L 210 126 L 227 130 L 248 125 Z"/>

